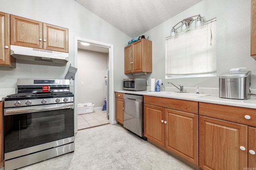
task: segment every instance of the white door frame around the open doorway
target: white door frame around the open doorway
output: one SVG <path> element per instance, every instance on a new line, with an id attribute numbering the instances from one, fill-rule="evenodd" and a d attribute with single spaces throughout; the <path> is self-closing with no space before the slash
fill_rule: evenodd
<path id="1" fill-rule="evenodd" d="M 116 121 L 114 120 L 114 45 L 108 44 L 100 41 L 95 41 L 92 39 L 85 39 L 82 37 L 74 37 L 74 66 L 77 68 L 78 63 L 78 41 L 82 41 L 85 43 L 90 43 L 94 45 L 99 45 L 102 47 L 107 47 L 109 49 L 109 123 L 115 124 Z M 75 80 L 74 80 L 74 113 L 77 113 L 77 74 L 75 74 Z M 74 132 L 77 133 L 78 127 L 77 127 L 77 114 L 74 115 L 74 121 L 75 121 L 75 129 Z"/>

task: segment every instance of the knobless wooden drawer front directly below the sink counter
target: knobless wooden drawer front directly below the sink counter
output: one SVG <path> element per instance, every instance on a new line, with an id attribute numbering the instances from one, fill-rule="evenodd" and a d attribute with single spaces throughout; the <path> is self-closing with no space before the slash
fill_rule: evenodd
<path id="1" fill-rule="evenodd" d="M 198 102 L 154 96 L 144 96 L 144 103 L 198 114 Z"/>

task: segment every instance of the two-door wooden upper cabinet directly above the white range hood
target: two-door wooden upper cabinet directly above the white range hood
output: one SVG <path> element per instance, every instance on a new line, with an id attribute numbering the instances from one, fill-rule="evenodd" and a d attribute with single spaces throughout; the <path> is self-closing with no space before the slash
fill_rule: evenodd
<path id="1" fill-rule="evenodd" d="M 68 29 L 10 15 L 11 45 L 68 53 Z"/>

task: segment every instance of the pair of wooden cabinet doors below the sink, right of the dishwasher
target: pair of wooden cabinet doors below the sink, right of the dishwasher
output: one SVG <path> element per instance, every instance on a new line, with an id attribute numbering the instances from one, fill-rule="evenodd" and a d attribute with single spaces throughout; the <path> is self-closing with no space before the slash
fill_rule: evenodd
<path id="1" fill-rule="evenodd" d="M 144 136 L 198 165 L 198 115 L 144 104 Z"/>

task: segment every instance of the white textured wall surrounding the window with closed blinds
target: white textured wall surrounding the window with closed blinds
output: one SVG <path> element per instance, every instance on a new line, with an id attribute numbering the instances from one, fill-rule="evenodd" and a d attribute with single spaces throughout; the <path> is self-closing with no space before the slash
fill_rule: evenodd
<path id="1" fill-rule="evenodd" d="M 152 41 L 153 58 L 153 72 L 146 77 L 162 79 L 165 86 L 171 86 L 168 81 L 180 83 L 184 89 L 195 86 L 218 88 L 219 74 L 230 68 L 247 67 L 246 70 L 252 71 L 252 88 L 256 88 L 256 61 L 250 57 L 250 4 L 251 0 L 203 0 L 144 33 Z M 206 20 L 217 17 L 217 76 L 165 79 L 165 37 L 170 36 L 176 23 L 198 14 Z"/>

